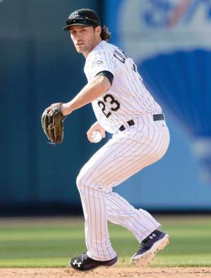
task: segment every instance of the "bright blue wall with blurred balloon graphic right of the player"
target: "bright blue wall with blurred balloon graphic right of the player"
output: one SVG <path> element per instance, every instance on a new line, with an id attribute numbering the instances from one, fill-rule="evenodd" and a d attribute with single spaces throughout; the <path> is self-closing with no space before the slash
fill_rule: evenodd
<path id="1" fill-rule="evenodd" d="M 211 47 L 210 42 L 205 44 L 206 38 L 210 38 L 211 4 L 210 1 L 190 1 L 190 18 L 185 13 L 178 27 L 172 28 L 171 35 L 172 29 L 167 26 L 168 16 L 171 10 L 184 3 L 181 0 L 108 0 L 104 5 L 105 22 L 112 33 L 111 42 L 135 59 L 142 77 L 146 73 L 146 77 L 151 77 L 144 79 L 144 82 L 153 89 L 153 97 L 162 105 L 170 130 L 171 142 L 164 158 L 115 189 L 135 206 L 149 209 L 200 211 L 211 208 L 211 182 L 204 179 L 194 155 L 192 143 L 195 138 L 191 133 L 192 129 L 197 128 L 211 130 L 210 66 L 207 66 L 210 65 Z M 148 16 L 146 21 L 154 20 L 151 28 L 144 25 L 144 14 Z M 187 58 L 185 55 L 188 48 L 197 50 L 197 44 L 200 49 L 206 50 L 207 56 L 205 59 L 205 50 L 198 51 L 195 65 L 194 55 Z M 181 49 L 185 49 L 181 56 L 179 53 L 176 58 L 173 55 L 169 56 L 169 60 L 165 57 L 165 60 L 159 59 L 158 54 L 181 52 Z M 143 59 L 144 54 L 150 54 L 150 51 L 153 62 L 158 56 L 155 63 L 149 63 L 149 57 Z M 139 57 L 142 57 L 141 61 Z M 198 71 L 199 75 L 192 75 Z M 159 84 L 155 82 L 156 79 L 160 79 Z M 171 85 L 171 90 L 161 98 L 163 89 L 168 89 L 165 85 Z M 171 106 L 166 105 L 165 99 L 171 100 Z M 201 119 L 203 122 L 200 123 Z"/>

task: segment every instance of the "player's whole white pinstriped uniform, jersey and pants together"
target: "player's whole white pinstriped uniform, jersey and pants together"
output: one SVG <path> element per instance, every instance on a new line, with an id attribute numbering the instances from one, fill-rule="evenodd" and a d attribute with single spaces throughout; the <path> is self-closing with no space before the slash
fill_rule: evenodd
<path id="1" fill-rule="evenodd" d="M 84 67 L 88 82 L 103 70 L 114 76 L 110 90 L 92 101 L 98 122 L 114 134 L 83 166 L 76 180 L 85 216 L 87 254 L 98 261 L 116 256 L 108 221 L 132 231 L 139 242 L 160 227 L 150 213 L 135 209 L 112 188 L 158 161 L 169 146 L 165 121 L 153 121 L 153 114 L 162 113 L 159 104 L 146 90 L 133 60 L 118 51 L 102 41 L 87 56 Z M 135 125 L 128 126 L 132 119 Z M 126 129 L 121 132 L 122 124 Z"/>

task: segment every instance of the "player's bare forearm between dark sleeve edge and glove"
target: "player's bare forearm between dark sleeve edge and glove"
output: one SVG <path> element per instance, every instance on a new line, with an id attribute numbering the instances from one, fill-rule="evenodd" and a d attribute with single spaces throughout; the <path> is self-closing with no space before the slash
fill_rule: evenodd
<path id="1" fill-rule="evenodd" d="M 89 104 L 97 97 L 103 95 L 110 89 L 110 82 L 105 76 L 96 76 L 90 83 L 87 83 L 81 92 L 66 104 L 62 104 L 62 113 L 70 114 L 72 111 Z"/>

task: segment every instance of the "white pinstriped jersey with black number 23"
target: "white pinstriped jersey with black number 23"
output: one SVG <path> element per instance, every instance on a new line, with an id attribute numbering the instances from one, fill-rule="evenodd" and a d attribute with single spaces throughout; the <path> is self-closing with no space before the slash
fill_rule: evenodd
<path id="1" fill-rule="evenodd" d="M 103 128 L 115 133 L 119 127 L 140 115 L 162 113 L 160 105 L 146 90 L 132 58 L 104 40 L 87 56 L 84 72 L 87 81 L 102 71 L 114 76 L 110 90 L 92 101 L 96 119 Z"/>

